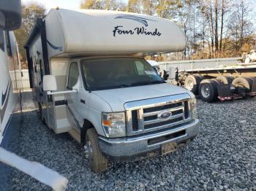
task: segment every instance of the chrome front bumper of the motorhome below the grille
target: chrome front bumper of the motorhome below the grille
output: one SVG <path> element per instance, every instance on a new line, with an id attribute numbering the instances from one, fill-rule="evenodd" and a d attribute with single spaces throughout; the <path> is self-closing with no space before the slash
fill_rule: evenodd
<path id="1" fill-rule="evenodd" d="M 150 152 L 161 149 L 161 145 L 170 141 L 181 144 L 195 138 L 199 132 L 199 120 L 167 128 L 152 133 L 125 138 L 108 139 L 99 136 L 99 147 L 105 155 L 113 160 L 146 157 Z"/>

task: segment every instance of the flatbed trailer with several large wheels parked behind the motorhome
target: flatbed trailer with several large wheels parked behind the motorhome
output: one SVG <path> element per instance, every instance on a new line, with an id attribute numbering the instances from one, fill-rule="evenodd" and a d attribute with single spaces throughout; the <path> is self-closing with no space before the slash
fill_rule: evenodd
<path id="1" fill-rule="evenodd" d="M 161 62 L 168 67 L 168 82 L 200 95 L 203 101 L 225 101 L 256 95 L 256 53 L 242 58 Z"/>

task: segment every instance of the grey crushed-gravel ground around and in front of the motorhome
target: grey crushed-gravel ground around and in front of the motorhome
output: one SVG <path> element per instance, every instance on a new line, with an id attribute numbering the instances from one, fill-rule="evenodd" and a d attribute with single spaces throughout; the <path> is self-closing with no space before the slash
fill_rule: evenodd
<path id="1" fill-rule="evenodd" d="M 24 114 L 17 154 L 59 171 L 67 190 L 256 190 L 256 98 L 206 104 L 197 101 L 200 134 L 173 154 L 135 163 L 110 163 L 91 172 L 83 150 L 55 135 L 37 113 Z M 26 107 L 33 104 L 25 101 Z M 15 171 L 10 190 L 50 190 Z"/>

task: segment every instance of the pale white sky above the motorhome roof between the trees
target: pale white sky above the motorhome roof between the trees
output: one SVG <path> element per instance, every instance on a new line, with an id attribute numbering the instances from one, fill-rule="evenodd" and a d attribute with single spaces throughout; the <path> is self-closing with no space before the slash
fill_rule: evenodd
<path id="1" fill-rule="evenodd" d="M 21 0 L 23 3 L 29 2 L 31 0 Z M 59 7 L 61 9 L 79 9 L 81 0 L 32 0 L 37 1 L 40 4 L 45 5 L 47 10 L 52 8 Z M 128 2 L 128 0 L 123 0 L 124 2 Z"/>

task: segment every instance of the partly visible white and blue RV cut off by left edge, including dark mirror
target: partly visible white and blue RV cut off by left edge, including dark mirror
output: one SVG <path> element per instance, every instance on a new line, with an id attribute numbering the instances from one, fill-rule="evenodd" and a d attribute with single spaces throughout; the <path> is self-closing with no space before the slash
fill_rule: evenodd
<path id="1" fill-rule="evenodd" d="M 18 45 L 12 30 L 20 26 L 20 1 L 0 1 L 0 149 L 12 151 L 18 144 L 20 124 L 21 70 Z M 0 190 L 6 190 L 10 183 L 10 167 L 1 161 Z"/>

